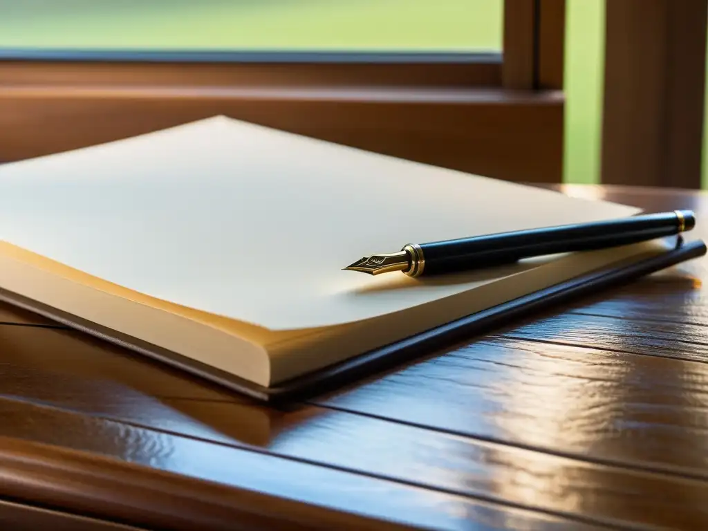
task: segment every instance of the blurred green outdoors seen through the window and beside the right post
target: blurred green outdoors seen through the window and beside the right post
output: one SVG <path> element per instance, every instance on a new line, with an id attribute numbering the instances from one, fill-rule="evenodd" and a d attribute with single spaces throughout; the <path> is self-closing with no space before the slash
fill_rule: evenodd
<path id="1" fill-rule="evenodd" d="M 503 0 L 0 0 L 0 13 L 0 50 L 499 52 L 503 40 Z M 599 178 L 604 25 L 605 0 L 567 2 L 567 183 Z"/>

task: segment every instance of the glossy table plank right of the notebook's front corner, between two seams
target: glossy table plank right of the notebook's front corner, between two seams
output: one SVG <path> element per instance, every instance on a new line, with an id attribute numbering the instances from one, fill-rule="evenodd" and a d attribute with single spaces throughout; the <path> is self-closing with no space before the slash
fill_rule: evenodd
<path id="1" fill-rule="evenodd" d="M 668 377 L 667 375 L 671 375 Z M 702 363 L 489 338 L 321 406 L 598 462 L 708 477 Z M 644 444 L 637 445 L 638 439 Z"/>

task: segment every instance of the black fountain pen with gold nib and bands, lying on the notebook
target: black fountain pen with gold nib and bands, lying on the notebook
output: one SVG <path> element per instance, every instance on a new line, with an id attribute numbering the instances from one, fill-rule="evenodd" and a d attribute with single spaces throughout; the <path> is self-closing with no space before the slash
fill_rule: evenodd
<path id="1" fill-rule="evenodd" d="M 592 251 L 673 236 L 695 227 L 691 210 L 634 215 L 598 222 L 408 244 L 397 253 L 365 256 L 345 270 L 370 275 L 401 271 L 440 275 L 515 263 L 523 258 Z"/>

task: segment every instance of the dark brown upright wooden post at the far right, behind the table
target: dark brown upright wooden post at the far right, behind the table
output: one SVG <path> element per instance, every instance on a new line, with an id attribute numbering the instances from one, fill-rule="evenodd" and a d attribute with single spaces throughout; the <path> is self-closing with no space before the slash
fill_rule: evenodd
<path id="1" fill-rule="evenodd" d="M 605 6 L 601 181 L 701 188 L 708 0 Z"/>

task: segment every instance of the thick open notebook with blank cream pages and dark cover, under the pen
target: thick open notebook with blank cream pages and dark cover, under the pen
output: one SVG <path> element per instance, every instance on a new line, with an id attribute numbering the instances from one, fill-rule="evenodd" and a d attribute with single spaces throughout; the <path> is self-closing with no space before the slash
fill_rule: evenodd
<path id="1" fill-rule="evenodd" d="M 217 116 L 0 166 L 0 295 L 271 399 L 704 246 L 431 279 L 342 269 L 361 256 L 637 212 Z"/>

